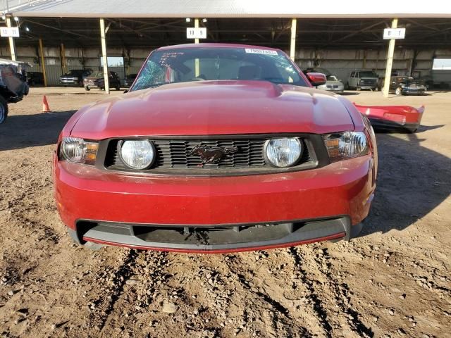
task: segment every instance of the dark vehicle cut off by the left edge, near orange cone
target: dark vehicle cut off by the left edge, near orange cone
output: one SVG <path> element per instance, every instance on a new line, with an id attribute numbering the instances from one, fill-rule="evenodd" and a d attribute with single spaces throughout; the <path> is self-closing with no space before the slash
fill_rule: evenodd
<path id="1" fill-rule="evenodd" d="M 28 94 L 25 77 L 27 63 L 0 58 L 0 124 L 8 116 L 8 104 L 15 104 Z"/>

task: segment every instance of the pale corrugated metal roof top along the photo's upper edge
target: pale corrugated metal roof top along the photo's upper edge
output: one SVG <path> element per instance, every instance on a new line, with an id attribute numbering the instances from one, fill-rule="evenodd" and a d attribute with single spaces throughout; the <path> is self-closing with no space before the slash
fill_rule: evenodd
<path id="1" fill-rule="evenodd" d="M 22 17 L 72 18 L 450 18 L 451 1 L 3 0 Z M 8 2 L 8 6 L 6 3 Z"/>

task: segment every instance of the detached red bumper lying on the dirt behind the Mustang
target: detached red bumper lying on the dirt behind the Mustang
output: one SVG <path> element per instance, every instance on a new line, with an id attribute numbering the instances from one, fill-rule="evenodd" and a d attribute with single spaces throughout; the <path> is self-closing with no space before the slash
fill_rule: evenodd
<path id="1" fill-rule="evenodd" d="M 366 115 L 371 125 L 378 130 L 407 130 L 416 132 L 421 124 L 424 106 L 361 106 L 354 104 L 360 113 Z"/>

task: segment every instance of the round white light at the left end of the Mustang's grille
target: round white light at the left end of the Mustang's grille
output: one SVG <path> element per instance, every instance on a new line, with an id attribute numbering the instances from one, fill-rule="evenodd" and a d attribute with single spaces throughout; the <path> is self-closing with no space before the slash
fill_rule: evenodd
<path id="1" fill-rule="evenodd" d="M 147 139 L 119 142 L 119 156 L 132 169 L 149 168 L 155 158 L 154 145 Z"/>

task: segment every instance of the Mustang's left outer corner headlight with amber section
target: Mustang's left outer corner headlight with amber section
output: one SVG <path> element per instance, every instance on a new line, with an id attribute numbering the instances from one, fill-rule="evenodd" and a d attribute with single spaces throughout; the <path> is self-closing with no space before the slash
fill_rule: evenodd
<path id="1" fill-rule="evenodd" d="M 86 142 L 79 137 L 63 137 L 59 148 L 59 157 L 63 161 L 94 164 L 96 162 L 97 142 Z"/>

